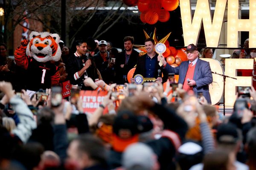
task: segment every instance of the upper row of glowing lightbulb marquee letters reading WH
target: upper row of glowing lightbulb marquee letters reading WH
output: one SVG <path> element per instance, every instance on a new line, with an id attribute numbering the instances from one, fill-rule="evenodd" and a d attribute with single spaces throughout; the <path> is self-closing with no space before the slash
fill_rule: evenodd
<path id="1" fill-rule="evenodd" d="M 217 0 L 212 20 L 209 0 L 198 0 L 194 17 L 189 0 L 180 0 L 184 44 L 197 44 L 201 23 L 204 23 L 204 33 L 207 47 L 218 47 L 221 26 L 227 4 L 227 47 L 238 47 L 238 31 L 248 31 L 249 48 L 256 48 L 256 0 L 250 0 L 249 18 L 238 19 L 239 0 Z"/>

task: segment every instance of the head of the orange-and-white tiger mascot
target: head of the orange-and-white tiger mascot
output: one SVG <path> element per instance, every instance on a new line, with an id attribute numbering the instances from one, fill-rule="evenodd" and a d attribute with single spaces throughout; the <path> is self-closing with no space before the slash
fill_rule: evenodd
<path id="1" fill-rule="evenodd" d="M 58 34 L 32 31 L 29 35 L 26 55 L 35 58 L 38 62 L 58 61 L 61 58 L 59 41 Z"/>

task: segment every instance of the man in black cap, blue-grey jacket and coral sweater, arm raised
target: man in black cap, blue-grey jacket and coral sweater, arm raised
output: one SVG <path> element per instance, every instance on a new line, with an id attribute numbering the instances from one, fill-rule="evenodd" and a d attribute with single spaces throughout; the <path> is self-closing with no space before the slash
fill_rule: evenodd
<path id="1" fill-rule="evenodd" d="M 198 48 L 190 44 L 186 48 L 188 61 L 183 61 L 178 67 L 173 68 L 163 58 L 164 69 L 169 73 L 179 75 L 178 83 L 183 84 L 186 91 L 193 90 L 195 94 L 202 92 L 207 102 L 211 104 L 209 84 L 212 83 L 212 71 L 209 62 L 198 58 Z M 158 57 L 160 61 L 160 57 Z M 193 68 L 194 67 L 194 68 Z M 192 74 L 192 72 L 194 72 Z"/>

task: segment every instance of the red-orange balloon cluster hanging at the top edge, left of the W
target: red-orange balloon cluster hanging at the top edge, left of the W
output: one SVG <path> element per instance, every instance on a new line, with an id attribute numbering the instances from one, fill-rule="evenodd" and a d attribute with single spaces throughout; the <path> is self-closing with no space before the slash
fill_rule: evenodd
<path id="1" fill-rule="evenodd" d="M 127 6 L 138 6 L 140 20 L 143 23 L 155 24 L 157 21 L 167 22 L 169 11 L 179 6 L 179 0 L 123 0 Z"/>

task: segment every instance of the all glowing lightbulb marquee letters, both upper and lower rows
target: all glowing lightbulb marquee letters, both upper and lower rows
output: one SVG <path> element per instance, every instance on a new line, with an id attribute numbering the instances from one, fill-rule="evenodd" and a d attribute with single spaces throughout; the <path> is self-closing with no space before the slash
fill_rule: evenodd
<path id="1" fill-rule="evenodd" d="M 227 48 L 238 48 L 238 32 L 249 32 L 249 48 L 256 48 L 256 0 L 249 2 L 250 19 L 239 19 L 239 0 L 216 0 L 214 17 L 212 19 L 209 0 L 198 0 L 192 18 L 189 0 L 180 0 L 180 13 L 183 27 L 184 44 L 197 44 L 201 23 L 204 23 L 204 33 L 207 47 L 217 48 L 227 5 Z M 210 62 L 212 71 L 223 74 L 221 65 L 214 59 L 204 59 Z M 225 75 L 237 79 L 226 79 L 225 105 L 233 106 L 236 100 L 236 86 L 251 86 L 252 77 L 236 76 L 237 69 L 253 69 L 254 59 L 226 59 Z M 223 93 L 223 78 L 213 74 L 214 82 L 210 88 L 212 104 L 217 103 Z"/>

